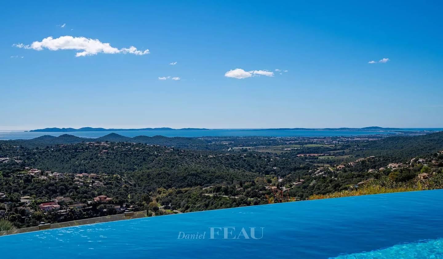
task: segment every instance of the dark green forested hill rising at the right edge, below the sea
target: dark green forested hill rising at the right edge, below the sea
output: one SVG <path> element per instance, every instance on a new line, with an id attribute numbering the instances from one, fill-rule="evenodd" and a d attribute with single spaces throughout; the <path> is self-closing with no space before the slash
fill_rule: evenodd
<path id="1" fill-rule="evenodd" d="M 420 136 L 392 136 L 370 142 L 364 155 L 402 159 L 441 150 L 443 150 L 443 131 Z"/>

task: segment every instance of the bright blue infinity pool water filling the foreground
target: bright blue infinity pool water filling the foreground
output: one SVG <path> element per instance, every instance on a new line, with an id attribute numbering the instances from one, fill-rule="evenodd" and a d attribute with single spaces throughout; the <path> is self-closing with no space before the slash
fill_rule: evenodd
<path id="1" fill-rule="evenodd" d="M 443 258 L 443 190 L 221 209 L 0 237 L 2 258 Z M 224 239 L 223 228 L 257 239 Z M 261 232 L 263 228 L 263 232 Z M 229 232 L 232 229 L 228 229 Z M 214 230 L 215 232 L 216 230 Z M 178 239 L 179 232 L 204 239 Z M 258 239 L 260 238 L 261 239 Z"/>

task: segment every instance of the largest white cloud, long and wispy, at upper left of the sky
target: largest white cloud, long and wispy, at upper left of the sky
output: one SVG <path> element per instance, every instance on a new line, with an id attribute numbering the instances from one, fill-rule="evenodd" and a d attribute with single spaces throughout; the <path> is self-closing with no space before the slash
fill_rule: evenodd
<path id="1" fill-rule="evenodd" d="M 13 44 L 18 48 L 32 49 L 32 50 L 43 50 L 44 48 L 48 50 L 83 50 L 82 52 L 77 52 L 76 57 L 85 57 L 96 55 L 97 53 L 105 54 L 135 54 L 135 55 L 145 55 L 149 54 L 149 50 L 137 50 L 136 47 L 130 46 L 129 48 L 117 49 L 112 47 L 109 43 L 102 43 L 98 39 L 88 39 L 85 37 L 72 37 L 72 36 L 61 36 L 57 39 L 52 37 L 47 37 L 42 41 L 35 41 L 31 45 L 24 45 L 23 43 Z"/>

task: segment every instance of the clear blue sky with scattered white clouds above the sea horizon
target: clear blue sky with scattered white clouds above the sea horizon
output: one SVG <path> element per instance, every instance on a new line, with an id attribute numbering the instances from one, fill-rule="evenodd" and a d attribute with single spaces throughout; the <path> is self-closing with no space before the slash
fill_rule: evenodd
<path id="1" fill-rule="evenodd" d="M 4 2 L 0 130 L 443 127 L 442 11 L 438 1 Z"/>

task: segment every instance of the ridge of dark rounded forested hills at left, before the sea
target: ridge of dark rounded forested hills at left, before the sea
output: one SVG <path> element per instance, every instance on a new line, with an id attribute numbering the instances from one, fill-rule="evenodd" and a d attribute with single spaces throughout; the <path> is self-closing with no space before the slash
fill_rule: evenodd
<path id="1" fill-rule="evenodd" d="M 116 133 L 110 133 L 97 139 L 81 138 L 74 135 L 63 134 L 58 137 L 51 135 L 44 135 L 35 139 L 15 139 L 15 140 L 0 140 L 0 144 L 10 144 L 14 146 L 23 147 L 46 147 L 58 144 L 75 144 L 82 142 L 130 142 L 130 143 L 143 143 L 160 146 L 174 146 L 174 147 L 186 147 L 186 148 L 199 148 L 207 149 L 208 143 L 202 139 L 185 138 L 185 137 L 164 137 L 164 136 L 136 136 L 125 137 Z"/>

